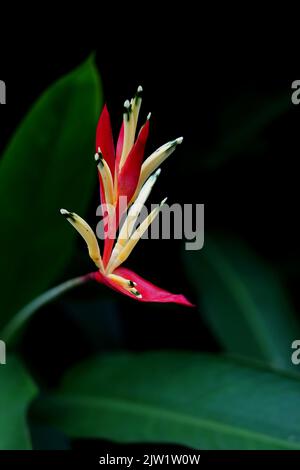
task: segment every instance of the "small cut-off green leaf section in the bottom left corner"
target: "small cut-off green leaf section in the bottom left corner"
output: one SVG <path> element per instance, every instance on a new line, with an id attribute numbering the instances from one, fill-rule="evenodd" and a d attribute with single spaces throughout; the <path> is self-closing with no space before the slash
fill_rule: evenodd
<path id="1" fill-rule="evenodd" d="M 0 450 L 31 448 L 27 407 L 36 394 L 29 375 L 14 357 L 0 366 Z"/>

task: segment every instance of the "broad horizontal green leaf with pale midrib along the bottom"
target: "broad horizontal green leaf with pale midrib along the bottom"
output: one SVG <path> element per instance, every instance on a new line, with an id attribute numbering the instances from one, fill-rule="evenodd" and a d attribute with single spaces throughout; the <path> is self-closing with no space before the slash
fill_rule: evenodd
<path id="1" fill-rule="evenodd" d="M 75 367 L 34 415 L 67 435 L 197 449 L 300 449 L 300 379 L 228 358 L 148 352 Z"/>

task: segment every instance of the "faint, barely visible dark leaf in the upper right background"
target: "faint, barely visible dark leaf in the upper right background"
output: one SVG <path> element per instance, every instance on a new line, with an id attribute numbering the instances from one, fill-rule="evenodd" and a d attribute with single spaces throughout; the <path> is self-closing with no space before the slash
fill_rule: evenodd
<path id="1" fill-rule="evenodd" d="M 289 92 L 235 97 L 220 111 L 217 144 L 197 161 L 215 167 L 239 153 L 253 156 L 265 150 L 262 132 L 291 109 L 290 103 Z"/>

